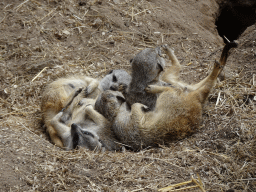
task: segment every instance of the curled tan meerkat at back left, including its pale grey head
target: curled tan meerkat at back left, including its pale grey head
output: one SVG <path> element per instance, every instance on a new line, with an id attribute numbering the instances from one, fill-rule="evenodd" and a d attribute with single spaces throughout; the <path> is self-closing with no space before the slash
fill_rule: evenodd
<path id="1" fill-rule="evenodd" d="M 58 147 L 63 147 L 61 138 L 55 128 L 51 125 L 51 119 L 60 112 L 69 102 L 75 105 L 83 98 L 95 99 L 104 90 L 116 90 L 119 84 L 129 85 L 131 76 L 124 70 L 112 70 L 101 81 L 86 76 L 70 76 L 60 78 L 46 86 L 43 95 L 41 109 L 43 121 L 51 141 Z M 77 90 L 80 89 L 78 93 Z M 74 97 L 74 94 L 78 94 Z M 74 101 L 73 101 L 74 100 Z M 71 111 L 72 113 L 72 111 Z M 61 118 L 70 117 L 71 114 L 64 113 Z"/>

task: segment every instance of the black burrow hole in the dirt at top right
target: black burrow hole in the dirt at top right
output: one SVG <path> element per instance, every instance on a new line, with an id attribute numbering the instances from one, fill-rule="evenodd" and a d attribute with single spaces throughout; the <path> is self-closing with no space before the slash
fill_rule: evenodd
<path id="1" fill-rule="evenodd" d="M 228 1 L 220 5 L 216 26 L 219 35 L 227 37 L 230 41 L 236 40 L 247 27 L 256 22 L 256 2 L 243 4 Z M 224 42 L 226 43 L 226 39 Z"/>

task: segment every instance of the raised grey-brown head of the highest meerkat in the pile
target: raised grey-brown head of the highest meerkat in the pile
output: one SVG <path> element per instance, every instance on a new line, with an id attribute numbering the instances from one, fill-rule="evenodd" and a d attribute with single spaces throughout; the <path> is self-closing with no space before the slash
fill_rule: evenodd
<path id="1" fill-rule="evenodd" d="M 131 64 L 132 77 L 136 78 L 136 84 L 142 86 L 143 90 L 146 84 L 159 79 L 160 73 L 165 67 L 160 47 L 142 50 L 131 60 Z"/>

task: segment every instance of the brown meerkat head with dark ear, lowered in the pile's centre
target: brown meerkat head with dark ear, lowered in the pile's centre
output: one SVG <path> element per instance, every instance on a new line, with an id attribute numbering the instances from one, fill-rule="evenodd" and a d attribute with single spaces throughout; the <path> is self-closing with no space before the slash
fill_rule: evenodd
<path id="1" fill-rule="evenodd" d="M 119 91 L 107 90 L 101 93 L 95 103 L 95 110 L 109 121 L 113 121 L 125 98 Z"/>

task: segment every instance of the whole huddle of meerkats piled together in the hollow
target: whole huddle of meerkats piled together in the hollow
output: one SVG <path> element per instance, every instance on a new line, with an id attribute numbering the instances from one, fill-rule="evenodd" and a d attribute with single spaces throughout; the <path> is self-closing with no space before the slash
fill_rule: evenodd
<path id="1" fill-rule="evenodd" d="M 139 52 L 131 61 L 131 75 L 113 70 L 100 81 L 58 79 L 43 92 L 47 132 L 66 150 L 140 150 L 182 139 L 199 128 L 203 104 L 236 46 L 226 44 L 212 72 L 194 85 L 179 80 L 182 67 L 167 45 Z M 172 63 L 167 69 L 161 49 Z"/>

